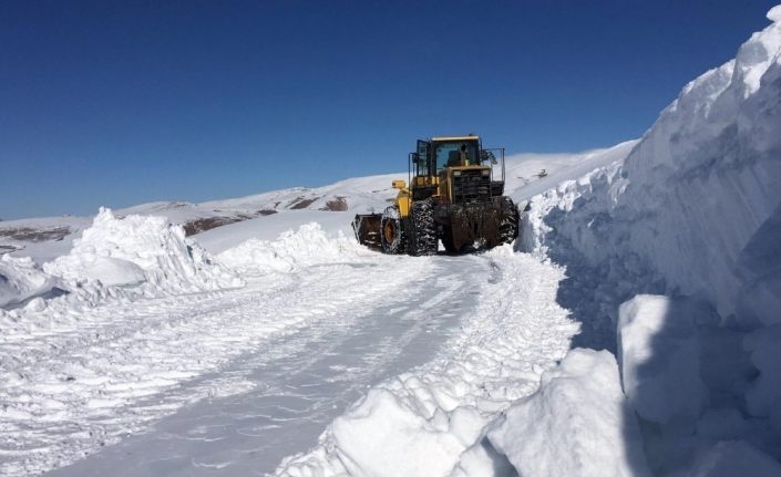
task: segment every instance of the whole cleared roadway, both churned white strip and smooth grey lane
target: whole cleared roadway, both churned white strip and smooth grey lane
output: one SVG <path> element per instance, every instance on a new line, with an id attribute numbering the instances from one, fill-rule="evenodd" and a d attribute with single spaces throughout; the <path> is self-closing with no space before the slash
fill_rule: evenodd
<path id="1" fill-rule="evenodd" d="M 11 331 L 0 474 L 90 454 L 62 475 L 271 471 L 367 387 L 432 360 L 500 279 L 487 256 L 371 255 Z"/>

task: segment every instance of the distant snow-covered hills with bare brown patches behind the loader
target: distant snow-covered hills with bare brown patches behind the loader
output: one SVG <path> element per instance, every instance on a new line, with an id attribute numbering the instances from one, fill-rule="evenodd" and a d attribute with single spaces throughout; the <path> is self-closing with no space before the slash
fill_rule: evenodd
<path id="1" fill-rule="evenodd" d="M 631 142 L 621 144 L 609 154 L 590 151 L 580 154 L 520 154 L 506 162 L 506 189 L 514 197 L 531 197 L 563 178 L 578 177 L 618 156 L 625 155 Z M 605 152 L 606 153 L 606 152 Z M 544 172 L 545 177 L 539 177 Z M 339 222 L 350 230 L 351 218 L 329 217 L 322 212 L 354 214 L 381 211 L 395 197 L 393 179 L 407 179 L 407 173 L 357 177 L 316 188 L 295 187 L 273 190 L 235 199 L 193 204 L 160 201 L 113 210 L 116 217 L 129 215 L 165 217 L 182 225 L 187 236 L 228 224 L 263 219 L 250 226 L 253 234 L 273 239 L 290 227 L 317 220 Z M 290 215 L 290 214 L 297 215 Z M 282 217 L 273 217 L 282 214 Z M 268 218 L 268 219 L 267 219 Z M 49 217 L 7 220 L 0 222 L 0 253 L 32 257 L 39 262 L 50 261 L 70 251 L 73 240 L 90 227 L 90 217 Z M 339 228 L 339 227 L 337 227 Z M 247 237 L 249 238 L 249 236 Z"/>

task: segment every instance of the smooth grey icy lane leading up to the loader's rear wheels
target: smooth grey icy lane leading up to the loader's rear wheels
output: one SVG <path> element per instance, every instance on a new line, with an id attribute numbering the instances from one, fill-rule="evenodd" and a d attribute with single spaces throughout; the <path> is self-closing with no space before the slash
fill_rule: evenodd
<path id="1" fill-rule="evenodd" d="M 405 273 L 399 267 L 428 270 Z M 314 445 L 326 425 L 367 386 L 430 360 L 475 307 L 475 284 L 490 276 L 473 257 L 397 259 L 404 284 L 360 314 L 321 320 L 237 359 L 223 373 L 257 383 L 251 391 L 202 402 L 59 476 L 248 475 L 270 471 L 285 455 Z M 471 281 L 465 281 L 469 270 Z M 456 272 L 458 270 L 458 272 Z M 132 458 L 126 456 L 132 455 Z M 117 474 L 116 463 L 123 465 Z"/>

